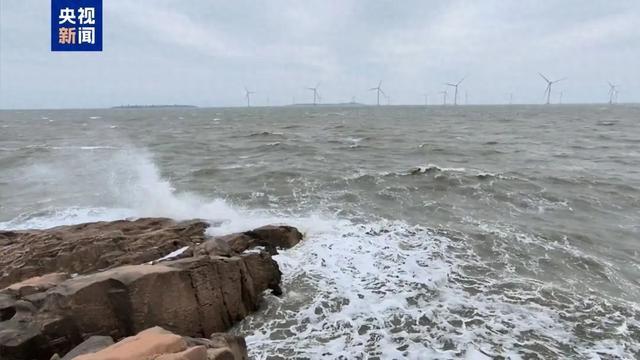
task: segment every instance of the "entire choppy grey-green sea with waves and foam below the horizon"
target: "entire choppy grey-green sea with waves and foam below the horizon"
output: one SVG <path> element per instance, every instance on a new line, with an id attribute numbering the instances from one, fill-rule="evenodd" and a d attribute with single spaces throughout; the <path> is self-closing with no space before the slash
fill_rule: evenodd
<path id="1" fill-rule="evenodd" d="M 640 357 L 640 106 L 0 111 L 0 228 L 271 222 L 255 358 Z"/>

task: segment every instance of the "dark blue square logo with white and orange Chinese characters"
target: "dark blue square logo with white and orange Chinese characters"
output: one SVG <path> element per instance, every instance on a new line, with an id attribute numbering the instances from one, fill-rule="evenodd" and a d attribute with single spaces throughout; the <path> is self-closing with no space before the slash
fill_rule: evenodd
<path id="1" fill-rule="evenodd" d="M 51 0 L 51 51 L 102 51 L 102 0 Z"/>

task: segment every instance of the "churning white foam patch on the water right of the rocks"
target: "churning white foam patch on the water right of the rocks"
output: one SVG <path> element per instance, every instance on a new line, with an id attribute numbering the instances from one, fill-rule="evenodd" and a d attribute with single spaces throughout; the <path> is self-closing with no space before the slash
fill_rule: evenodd
<path id="1" fill-rule="evenodd" d="M 489 271 L 465 241 L 419 226 L 334 219 L 276 260 L 284 295 L 268 298 L 267 314 L 251 315 L 237 330 L 258 359 L 276 353 L 517 359 L 522 351 L 534 354 L 538 343 L 560 357 L 571 347 L 581 355 L 633 351 L 624 350 L 628 340 L 582 341 L 562 310 L 531 301 L 542 289 L 561 289 Z M 512 282 L 521 285 L 504 288 Z M 581 301 L 578 294 L 565 296 Z"/>

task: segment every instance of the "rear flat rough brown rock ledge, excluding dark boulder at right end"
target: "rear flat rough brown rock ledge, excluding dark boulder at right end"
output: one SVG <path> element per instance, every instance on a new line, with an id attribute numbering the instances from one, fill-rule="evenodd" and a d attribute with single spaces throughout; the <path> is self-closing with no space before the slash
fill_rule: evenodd
<path id="1" fill-rule="evenodd" d="M 143 218 L 0 231 L 0 287 L 52 272 L 142 264 L 205 239 L 206 222 Z"/>

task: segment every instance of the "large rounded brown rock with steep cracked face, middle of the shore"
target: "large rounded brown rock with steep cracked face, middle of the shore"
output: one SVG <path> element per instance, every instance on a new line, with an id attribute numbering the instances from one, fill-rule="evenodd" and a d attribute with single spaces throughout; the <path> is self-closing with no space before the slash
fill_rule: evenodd
<path id="1" fill-rule="evenodd" d="M 8 315 L 0 322 L 0 352 L 8 359 L 48 359 L 91 335 L 122 338 L 156 325 L 203 337 L 255 311 L 262 292 L 277 288 L 279 279 L 275 261 L 250 253 L 126 265 L 24 298 L 3 294 Z"/>

